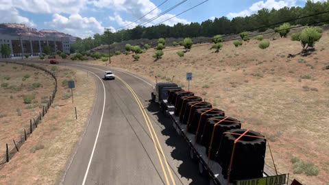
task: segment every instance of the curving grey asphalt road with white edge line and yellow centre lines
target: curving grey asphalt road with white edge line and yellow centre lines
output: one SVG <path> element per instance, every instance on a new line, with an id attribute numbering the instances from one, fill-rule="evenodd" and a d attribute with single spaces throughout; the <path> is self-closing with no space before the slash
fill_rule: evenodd
<path id="1" fill-rule="evenodd" d="M 114 69 L 117 78 L 103 80 L 103 71 L 109 70 L 105 66 L 66 66 L 95 77 L 97 98 L 62 184 L 208 184 L 171 121 L 150 103 L 147 80 Z"/>

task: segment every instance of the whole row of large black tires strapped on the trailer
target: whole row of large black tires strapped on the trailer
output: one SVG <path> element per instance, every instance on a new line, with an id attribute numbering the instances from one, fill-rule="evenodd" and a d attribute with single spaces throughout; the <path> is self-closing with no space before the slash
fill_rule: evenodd
<path id="1" fill-rule="evenodd" d="M 206 147 L 210 160 L 222 167 L 222 175 L 228 178 L 231 157 L 230 182 L 263 177 L 266 139 L 261 134 L 241 129 L 241 122 L 225 115 L 223 110 L 212 108 L 194 93 L 182 89 L 169 90 L 168 102 L 175 106 L 175 116 L 186 124 L 187 132 L 195 134 L 195 141 Z M 232 155 L 234 140 L 236 141 Z"/>

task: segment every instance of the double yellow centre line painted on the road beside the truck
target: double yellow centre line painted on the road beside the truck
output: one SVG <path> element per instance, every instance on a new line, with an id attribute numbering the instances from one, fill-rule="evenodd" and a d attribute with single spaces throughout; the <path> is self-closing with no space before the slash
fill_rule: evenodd
<path id="1" fill-rule="evenodd" d="M 136 102 L 137 102 L 137 104 L 138 104 L 139 108 L 141 109 L 141 112 L 142 112 L 142 114 L 144 116 L 145 122 L 147 124 L 147 128 L 149 129 L 149 133 L 151 134 L 151 139 L 152 139 L 152 141 L 154 143 L 154 147 L 156 148 L 156 153 L 158 154 L 158 158 L 160 160 L 161 168 L 162 168 L 162 171 L 164 173 L 164 178 L 166 179 L 166 183 L 168 185 L 170 184 L 169 183 L 169 179 L 168 179 L 168 175 L 167 175 L 167 171 L 168 171 L 169 176 L 170 176 L 170 179 L 171 179 L 171 182 L 172 182 L 173 185 L 175 185 L 175 180 L 173 180 L 173 174 L 171 173 L 171 169 L 169 168 L 169 164 L 167 162 L 167 158 L 164 155 L 164 152 L 163 152 L 162 147 L 160 145 L 158 136 L 156 135 L 156 131 L 154 130 L 154 127 L 153 127 L 151 121 L 149 120 L 149 116 L 147 115 L 147 112 L 143 108 L 143 104 L 141 103 L 141 100 L 138 98 L 138 96 L 136 95 L 136 93 L 134 92 L 134 90 L 132 90 L 132 88 L 123 79 L 121 79 L 121 77 L 118 77 L 117 76 L 117 79 L 119 79 L 123 84 L 125 84 L 125 86 L 127 86 L 128 90 L 130 90 L 130 92 L 132 93 L 132 95 L 136 99 Z M 154 138 L 156 138 L 156 140 L 154 140 Z M 162 158 L 160 156 L 160 153 L 159 153 L 159 149 L 158 148 L 160 149 L 160 152 L 162 154 L 162 157 L 163 157 L 163 160 L 164 160 L 164 164 L 167 167 L 167 171 L 166 171 L 166 169 L 164 169 L 164 165 L 163 165 Z"/>

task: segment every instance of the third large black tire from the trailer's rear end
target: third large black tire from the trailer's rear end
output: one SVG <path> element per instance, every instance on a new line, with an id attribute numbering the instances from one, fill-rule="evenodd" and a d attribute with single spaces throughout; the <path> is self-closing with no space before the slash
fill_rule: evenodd
<path id="1" fill-rule="evenodd" d="M 197 109 L 190 122 L 188 123 L 187 131 L 191 134 L 197 135 L 197 142 L 202 136 L 202 131 L 204 130 L 204 125 L 206 124 L 206 120 L 208 118 L 214 117 L 214 116 L 225 116 L 225 113 L 223 110 L 219 110 L 218 108 L 200 108 Z M 206 113 L 205 113 L 206 112 Z M 199 124 L 201 117 L 201 122 Z M 198 130 L 199 127 L 199 130 Z M 197 133 L 196 133 L 197 132 Z"/>

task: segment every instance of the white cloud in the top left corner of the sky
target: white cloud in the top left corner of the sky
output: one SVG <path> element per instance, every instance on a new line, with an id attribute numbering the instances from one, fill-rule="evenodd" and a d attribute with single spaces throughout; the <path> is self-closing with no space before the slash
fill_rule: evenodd
<path id="1" fill-rule="evenodd" d="M 19 11 L 12 7 L 11 2 L 0 0 L 0 23 L 21 23 L 34 27 L 33 21 L 19 15 Z"/>

